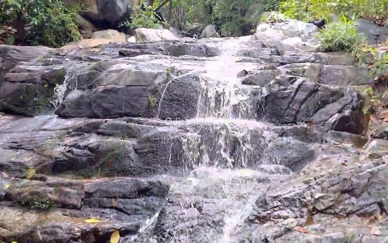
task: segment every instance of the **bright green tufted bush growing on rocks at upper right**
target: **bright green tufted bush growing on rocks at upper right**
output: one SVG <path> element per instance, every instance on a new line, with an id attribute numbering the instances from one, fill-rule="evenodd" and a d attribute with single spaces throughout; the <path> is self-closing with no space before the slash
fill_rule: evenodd
<path id="1" fill-rule="evenodd" d="M 364 37 L 356 33 L 353 21 L 344 16 L 338 22 L 327 24 L 321 32 L 318 40 L 323 52 L 352 52 L 364 41 Z"/>

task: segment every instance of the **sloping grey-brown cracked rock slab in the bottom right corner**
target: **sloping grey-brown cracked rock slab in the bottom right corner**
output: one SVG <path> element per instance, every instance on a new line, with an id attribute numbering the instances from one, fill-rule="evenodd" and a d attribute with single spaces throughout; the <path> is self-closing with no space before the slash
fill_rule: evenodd
<path id="1" fill-rule="evenodd" d="M 323 156 L 273 184 L 240 227 L 245 241 L 381 242 L 387 237 L 387 157 Z M 298 181 L 298 182 L 297 182 Z"/>

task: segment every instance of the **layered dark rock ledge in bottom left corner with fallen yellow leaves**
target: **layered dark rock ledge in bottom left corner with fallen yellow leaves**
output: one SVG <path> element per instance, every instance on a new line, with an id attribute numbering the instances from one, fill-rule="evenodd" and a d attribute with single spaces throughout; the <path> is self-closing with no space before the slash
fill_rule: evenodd
<path id="1" fill-rule="evenodd" d="M 24 180 L 2 173 L 0 182 L 3 242 L 92 243 L 109 241 L 115 231 L 135 235 L 169 191 L 162 181 L 129 177 Z"/>

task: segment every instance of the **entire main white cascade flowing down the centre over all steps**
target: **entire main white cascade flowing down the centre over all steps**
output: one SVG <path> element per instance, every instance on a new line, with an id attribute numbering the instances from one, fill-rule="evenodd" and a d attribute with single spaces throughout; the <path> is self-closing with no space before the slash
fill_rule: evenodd
<path id="1" fill-rule="evenodd" d="M 187 131 L 181 141 L 182 163 L 194 170 L 173 183 L 170 198 L 175 209 L 168 211 L 175 215 L 168 233 L 173 237 L 160 242 L 235 242 L 236 229 L 271 181 L 271 175 L 253 169 L 277 163 L 271 154 L 276 137 L 271 125 L 255 120 L 249 87 L 237 77 L 242 69 L 259 68 L 256 63 L 238 62 L 235 53 L 244 41 L 224 40 L 222 54 L 196 70 L 201 79 L 197 116 L 181 127 Z M 196 202 L 203 204 L 201 209 L 187 207 Z M 209 223 L 209 217 L 218 223 Z"/>

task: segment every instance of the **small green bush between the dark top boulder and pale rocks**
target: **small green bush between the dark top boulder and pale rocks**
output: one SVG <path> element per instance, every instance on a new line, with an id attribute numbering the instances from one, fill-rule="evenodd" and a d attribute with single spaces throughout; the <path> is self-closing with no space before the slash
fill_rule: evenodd
<path id="1" fill-rule="evenodd" d="M 159 24 L 162 22 L 158 21 L 158 19 L 155 17 L 154 10 L 154 6 L 145 5 L 145 11 L 143 11 L 140 6 L 137 6 L 131 14 L 131 20 L 124 20 L 124 22 L 121 23 L 119 27 L 125 26 L 129 29 L 157 29 Z"/>

